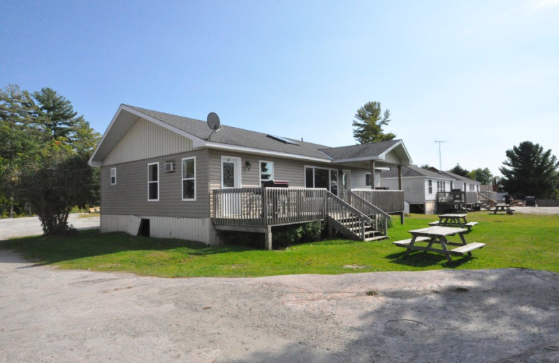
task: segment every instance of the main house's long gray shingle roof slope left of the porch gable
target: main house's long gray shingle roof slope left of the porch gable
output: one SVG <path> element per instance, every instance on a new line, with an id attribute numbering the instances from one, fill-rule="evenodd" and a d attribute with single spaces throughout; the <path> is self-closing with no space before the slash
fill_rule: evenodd
<path id="1" fill-rule="evenodd" d="M 133 110 L 136 110 L 138 112 L 142 112 L 143 114 L 147 114 L 154 119 L 158 119 L 165 124 L 178 128 L 181 131 L 190 133 L 191 135 L 194 135 L 197 138 L 201 138 L 203 140 L 208 140 L 208 138 L 210 138 L 210 134 L 212 133 L 205 121 L 189 119 L 188 117 L 177 116 L 175 114 L 168 114 L 165 112 L 146 110 L 145 108 L 138 108 L 131 105 L 126 105 L 126 107 L 132 108 Z M 314 158 L 324 158 L 325 161 L 329 160 L 328 156 L 320 151 L 320 149 L 328 149 L 329 147 L 325 145 L 314 144 L 312 142 L 303 142 L 291 138 L 287 139 L 296 142 L 298 145 L 290 145 L 278 140 L 274 140 L 273 138 L 268 138 L 268 135 L 266 133 L 259 133 L 256 131 L 249 131 L 242 128 L 222 125 L 222 130 L 213 133 L 209 141 L 227 145 L 237 145 L 270 151 L 280 151 L 289 154 L 299 154 L 304 156 L 311 156 Z"/>

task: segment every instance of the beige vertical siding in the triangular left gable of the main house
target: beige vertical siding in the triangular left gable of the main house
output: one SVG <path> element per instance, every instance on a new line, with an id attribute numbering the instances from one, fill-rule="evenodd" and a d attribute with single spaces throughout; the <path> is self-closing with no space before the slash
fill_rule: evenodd
<path id="1" fill-rule="evenodd" d="M 172 155 L 192 149 L 192 140 L 153 122 L 138 119 L 103 160 L 103 165 Z"/>

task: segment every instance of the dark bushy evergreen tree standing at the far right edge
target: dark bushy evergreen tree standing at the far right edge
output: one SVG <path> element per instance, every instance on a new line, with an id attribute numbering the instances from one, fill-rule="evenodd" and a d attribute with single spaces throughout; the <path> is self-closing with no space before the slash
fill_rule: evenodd
<path id="1" fill-rule="evenodd" d="M 521 142 L 506 152 L 500 172 L 504 191 L 516 198 L 535 196 L 537 198 L 554 198 L 559 183 L 559 161 L 551 154 L 551 149 L 544 151 L 539 144 L 530 141 Z"/>

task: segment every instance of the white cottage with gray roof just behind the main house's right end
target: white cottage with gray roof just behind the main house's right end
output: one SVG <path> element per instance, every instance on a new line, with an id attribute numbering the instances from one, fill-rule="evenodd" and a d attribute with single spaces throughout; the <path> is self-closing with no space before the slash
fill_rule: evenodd
<path id="1" fill-rule="evenodd" d="M 398 189 L 398 170 L 382 172 L 382 186 Z M 434 214 L 437 212 L 437 192 L 451 191 L 455 179 L 417 165 L 402 166 L 402 190 L 409 203 L 410 213 Z"/>

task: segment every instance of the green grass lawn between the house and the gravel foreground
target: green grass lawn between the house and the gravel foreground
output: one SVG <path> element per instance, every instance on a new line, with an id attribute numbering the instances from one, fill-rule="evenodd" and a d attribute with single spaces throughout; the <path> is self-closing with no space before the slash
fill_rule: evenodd
<path id="1" fill-rule="evenodd" d="M 62 269 L 124 271 L 165 277 L 269 276 L 282 274 L 344 274 L 348 272 L 423 271 L 429 269 L 498 269 L 520 267 L 559 272 L 559 215 L 493 215 L 469 213 L 477 221 L 467 242 L 484 242 L 472 257 L 447 262 L 438 253 L 414 252 L 391 240 L 354 242 L 329 239 L 264 251 L 242 246 L 208 247 L 180 239 L 131 237 L 125 233 L 99 234 L 85 230 L 72 237 L 27 237 L 0 242 L 38 264 Z M 408 230 L 428 227 L 437 216 L 412 214 L 400 225 L 393 218 L 392 240 L 411 237 Z M 458 236 L 449 237 L 458 241 Z M 351 267 L 349 267 L 351 266 Z"/>

